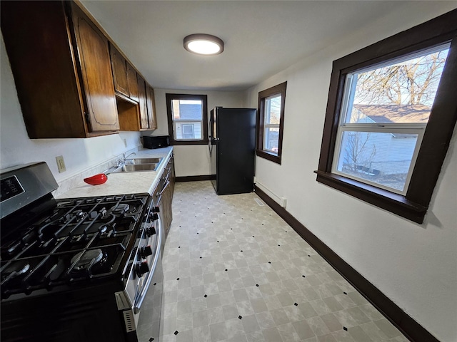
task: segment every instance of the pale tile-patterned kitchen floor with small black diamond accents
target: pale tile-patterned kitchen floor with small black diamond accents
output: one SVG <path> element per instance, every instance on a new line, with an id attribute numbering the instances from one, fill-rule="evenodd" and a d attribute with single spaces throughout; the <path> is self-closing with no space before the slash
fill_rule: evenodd
<path id="1" fill-rule="evenodd" d="M 162 342 L 408 340 L 254 193 L 176 184 Z"/>

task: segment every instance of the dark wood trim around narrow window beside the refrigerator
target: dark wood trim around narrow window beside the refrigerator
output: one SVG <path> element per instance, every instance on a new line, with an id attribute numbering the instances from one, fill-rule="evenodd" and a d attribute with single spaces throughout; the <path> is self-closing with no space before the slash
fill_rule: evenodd
<path id="1" fill-rule="evenodd" d="M 257 110 L 257 148 L 256 155 L 265 159 L 281 164 L 281 155 L 283 150 L 283 128 L 284 128 L 284 104 L 286 103 L 287 82 L 277 86 L 262 90 L 258 93 L 258 110 Z M 263 150 L 263 122 L 264 122 L 264 105 L 265 99 L 271 95 L 281 94 L 281 119 L 279 120 L 279 141 L 278 154 Z"/>

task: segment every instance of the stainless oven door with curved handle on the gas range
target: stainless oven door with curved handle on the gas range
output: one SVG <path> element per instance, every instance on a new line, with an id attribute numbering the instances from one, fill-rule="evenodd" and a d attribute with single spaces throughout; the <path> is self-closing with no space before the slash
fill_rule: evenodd
<path id="1" fill-rule="evenodd" d="M 139 290 L 134 304 L 136 336 L 139 342 L 159 341 L 162 297 L 164 293 L 164 271 L 162 269 L 160 218 L 156 220 L 157 248 L 151 271 Z M 152 340 L 151 338 L 154 338 Z"/>

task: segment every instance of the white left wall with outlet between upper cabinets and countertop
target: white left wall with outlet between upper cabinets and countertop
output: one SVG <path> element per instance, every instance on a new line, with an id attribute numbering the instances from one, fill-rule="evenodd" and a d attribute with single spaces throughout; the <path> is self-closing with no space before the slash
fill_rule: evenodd
<path id="1" fill-rule="evenodd" d="M 69 177 L 140 145 L 139 132 L 121 132 L 86 139 L 30 139 L 17 98 L 3 36 L 0 49 L 0 169 L 27 162 L 44 161 L 60 184 Z M 124 139 L 127 146 L 124 145 Z M 58 155 L 64 157 L 66 172 L 59 173 L 57 170 Z"/>

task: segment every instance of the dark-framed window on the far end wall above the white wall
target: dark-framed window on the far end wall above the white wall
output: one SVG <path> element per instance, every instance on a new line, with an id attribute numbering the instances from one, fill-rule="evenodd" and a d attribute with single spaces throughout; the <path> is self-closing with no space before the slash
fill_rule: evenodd
<path id="1" fill-rule="evenodd" d="M 206 95 L 166 94 L 171 145 L 208 143 Z"/>

